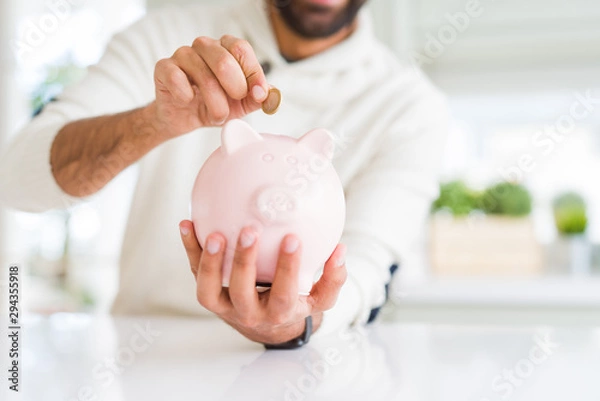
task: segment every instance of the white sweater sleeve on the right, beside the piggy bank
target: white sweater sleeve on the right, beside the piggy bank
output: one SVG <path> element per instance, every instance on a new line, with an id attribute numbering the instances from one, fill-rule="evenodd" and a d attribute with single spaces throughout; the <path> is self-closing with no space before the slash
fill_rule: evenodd
<path id="1" fill-rule="evenodd" d="M 346 188 L 348 280 L 336 306 L 325 313 L 323 332 L 365 324 L 386 300 L 390 267 L 402 263 L 420 238 L 448 129 L 445 99 L 428 88 L 382 136 L 368 165 Z"/>

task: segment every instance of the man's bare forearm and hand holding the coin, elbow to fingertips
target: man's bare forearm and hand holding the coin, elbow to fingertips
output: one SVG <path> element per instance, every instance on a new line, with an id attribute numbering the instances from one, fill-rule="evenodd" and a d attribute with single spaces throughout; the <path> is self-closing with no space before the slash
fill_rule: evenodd
<path id="1" fill-rule="evenodd" d="M 258 110 L 269 86 L 245 40 L 196 39 L 160 60 L 156 99 L 145 107 L 73 121 L 52 144 L 50 164 L 69 195 L 88 196 L 163 142 Z"/>

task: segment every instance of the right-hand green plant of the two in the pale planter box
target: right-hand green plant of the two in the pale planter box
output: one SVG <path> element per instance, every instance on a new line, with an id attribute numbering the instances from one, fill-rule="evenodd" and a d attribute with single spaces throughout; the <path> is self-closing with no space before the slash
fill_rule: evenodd
<path id="1" fill-rule="evenodd" d="M 526 216 L 531 212 L 531 195 L 520 184 L 500 182 L 483 192 L 479 208 L 488 214 Z"/>

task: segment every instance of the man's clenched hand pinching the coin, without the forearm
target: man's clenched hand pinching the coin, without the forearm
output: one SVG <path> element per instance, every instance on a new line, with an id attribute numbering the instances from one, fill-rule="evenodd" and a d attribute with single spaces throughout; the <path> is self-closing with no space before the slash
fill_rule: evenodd
<path id="1" fill-rule="evenodd" d="M 269 85 L 250 44 L 205 36 L 177 49 L 154 70 L 158 126 L 167 137 L 218 126 L 258 110 Z"/>

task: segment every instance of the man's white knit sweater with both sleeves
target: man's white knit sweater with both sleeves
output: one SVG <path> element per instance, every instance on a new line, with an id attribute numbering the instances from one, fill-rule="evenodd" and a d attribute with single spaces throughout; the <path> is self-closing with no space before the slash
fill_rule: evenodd
<path id="1" fill-rule="evenodd" d="M 341 138 L 334 166 L 346 194 L 343 242 L 350 277 L 338 304 L 325 315 L 326 332 L 365 322 L 371 309 L 383 303 L 389 267 L 402 263 L 437 194 L 447 109 L 413 66 L 402 65 L 375 39 L 364 12 L 347 40 L 288 63 L 278 52 L 264 3 L 162 9 L 116 35 L 84 81 L 48 105 L 6 149 L 0 160 L 0 200 L 27 211 L 81 201 L 63 193 L 50 171 L 50 146 L 65 123 L 151 102 L 155 63 L 198 36 L 245 38 L 259 60 L 270 64 L 267 80 L 284 96 L 276 115 L 259 111 L 246 121 L 259 132 L 299 137 L 324 127 Z M 178 223 L 190 217 L 194 178 L 219 146 L 219 132 L 200 129 L 139 162 L 115 312 L 207 313 L 196 301 Z"/>

